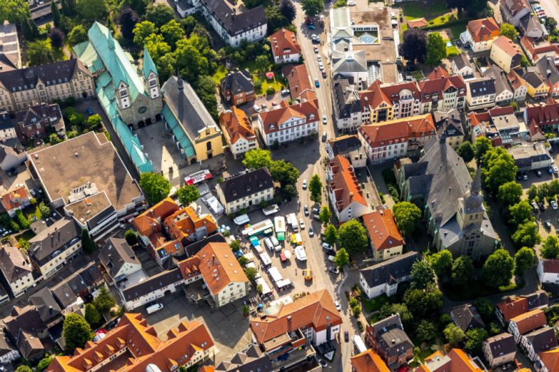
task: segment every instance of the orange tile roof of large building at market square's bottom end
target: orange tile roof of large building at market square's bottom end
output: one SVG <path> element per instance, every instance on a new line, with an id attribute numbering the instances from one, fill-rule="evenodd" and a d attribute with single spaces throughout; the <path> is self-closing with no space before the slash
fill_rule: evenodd
<path id="1" fill-rule="evenodd" d="M 262 344 L 301 327 L 313 327 L 318 332 L 328 324 L 341 325 L 342 318 L 328 290 L 318 290 L 290 304 L 280 304 L 276 313 L 266 313 L 264 319 L 260 315 L 252 318 L 250 329 Z"/>

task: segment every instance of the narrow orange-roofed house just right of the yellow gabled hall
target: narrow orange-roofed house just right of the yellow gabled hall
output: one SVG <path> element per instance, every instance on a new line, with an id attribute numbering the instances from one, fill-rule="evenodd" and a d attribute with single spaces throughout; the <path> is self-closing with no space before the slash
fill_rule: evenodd
<path id="1" fill-rule="evenodd" d="M 258 149 L 258 140 L 252 122 L 244 111 L 234 105 L 231 106 L 230 110 L 219 114 L 219 125 L 222 127 L 222 133 L 229 144 L 233 158 L 239 158 L 247 151 Z"/>

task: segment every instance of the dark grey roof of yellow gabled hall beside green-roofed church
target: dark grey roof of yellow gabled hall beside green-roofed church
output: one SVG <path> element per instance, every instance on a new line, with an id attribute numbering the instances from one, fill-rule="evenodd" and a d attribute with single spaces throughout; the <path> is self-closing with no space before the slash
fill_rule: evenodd
<path id="1" fill-rule="evenodd" d="M 171 76 L 164 82 L 161 90 L 168 107 L 187 130 L 192 141 L 198 138 L 199 131 L 208 126 L 217 126 L 189 83 Z"/>

